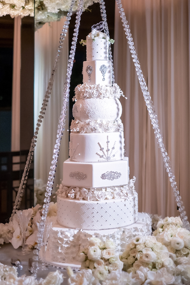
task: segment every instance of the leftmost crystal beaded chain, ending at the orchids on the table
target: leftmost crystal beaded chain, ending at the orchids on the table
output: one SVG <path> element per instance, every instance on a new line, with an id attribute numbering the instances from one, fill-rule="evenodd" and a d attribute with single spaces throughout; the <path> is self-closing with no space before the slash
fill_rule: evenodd
<path id="1" fill-rule="evenodd" d="M 63 41 L 64 41 L 64 38 L 66 37 L 67 29 L 69 28 L 69 21 L 71 20 L 71 15 L 72 15 L 74 3 L 75 3 L 75 0 L 72 0 L 71 1 L 71 6 L 69 8 L 69 11 L 67 13 L 67 16 L 66 16 L 66 19 L 65 19 L 65 22 L 64 22 L 64 26 L 63 26 L 61 37 L 60 37 L 59 47 L 58 47 L 58 51 L 57 51 L 57 54 L 56 54 L 56 59 L 55 59 L 53 70 L 52 70 L 52 74 L 51 74 L 51 77 L 50 77 L 50 80 L 49 80 L 49 83 L 48 83 L 48 86 L 47 86 L 47 90 L 45 92 L 45 97 L 43 99 L 43 104 L 42 104 L 40 115 L 38 117 L 38 122 L 37 122 L 37 125 L 36 125 L 36 130 L 35 130 L 34 136 L 33 136 L 32 141 L 31 141 L 31 147 L 30 147 L 30 150 L 29 150 L 29 154 L 28 154 L 28 158 L 27 158 L 26 165 L 25 165 L 25 168 L 24 168 L 24 172 L 22 174 L 20 187 L 18 189 L 18 193 L 17 193 L 16 199 L 15 199 L 15 204 L 14 204 L 14 207 L 13 207 L 11 219 L 14 216 L 16 210 L 20 208 L 20 203 L 22 201 L 23 192 L 24 192 L 24 190 L 26 188 L 26 182 L 27 182 L 27 178 L 28 178 L 28 174 L 29 174 L 29 170 L 30 170 L 32 157 L 33 157 L 33 154 L 34 154 L 35 143 L 36 143 L 36 140 L 37 140 L 37 134 L 38 134 L 38 131 L 39 131 L 39 127 L 41 126 L 43 115 L 45 114 L 45 110 L 46 110 L 46 107 L 47 107 L 48 99 L 50 98 L 52 85 L 53 85 L 55 74 L 56 74 L 57 65 L 58 65 L 60 54 L 61 54 L 61 51 L 62 51 Z"/>

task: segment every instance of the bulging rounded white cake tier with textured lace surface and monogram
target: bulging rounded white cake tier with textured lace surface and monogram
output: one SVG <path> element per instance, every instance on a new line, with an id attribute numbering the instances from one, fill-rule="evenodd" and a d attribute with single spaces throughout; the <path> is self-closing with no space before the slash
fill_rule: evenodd
<path id="1" fill-rule="evenodd" d="M 73 117 L 79 121 L 105 120 L 117 121 L 122 114 L 122 107 L 117 98 L 78 99 L 73 105 Z"/>

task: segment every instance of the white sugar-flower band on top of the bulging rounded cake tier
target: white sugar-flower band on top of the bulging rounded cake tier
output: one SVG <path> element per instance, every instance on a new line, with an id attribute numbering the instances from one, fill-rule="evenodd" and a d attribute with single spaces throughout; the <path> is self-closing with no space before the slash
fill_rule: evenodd
<path id="1" fill-rule="evenodd" d="M 75 96 L 73 97 L 73 101 L 77 99 L 87 99 L 87 98 L 118 98 L 123 96 L 123 92 L 119 88 L 119 86 L 114 83 L 113 86 L 111 85 L 88 85 L 87 83 L 79 84 L 75 88 Z"/>

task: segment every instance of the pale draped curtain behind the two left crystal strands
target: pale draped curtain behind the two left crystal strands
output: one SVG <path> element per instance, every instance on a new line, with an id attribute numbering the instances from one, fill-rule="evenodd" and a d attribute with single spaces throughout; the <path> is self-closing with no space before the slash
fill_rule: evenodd
<path id="1" fill-rule="evenodd" d="M 43 103 L 43 98 L 47 89 L 56 52 L 59 46 L 60 34 L 64 25 L 65 18 L 60 22 L 46 23 L 35 32 L 35 79 L 34 79 L 34 126 L 36 127 L 39 112 Z M 34 177 L 42 179 L 47 183 L 50 166 L 56 143 L 57 127 L 62 108 L 62 98 L 64 82 L 66 79 L 66 69 L 68 62 L 68 34 L 64 40 L 62 53 L 60 56 L 58 69 L 54 79 L 52 92 L 47 104 L 44 119 L 39 129 L 34 156 Z M 56 177 L 54 179 L 54 190 L 63 178 L 63 161 L 69 158 L 69 129 L 68 120 L 66 121 L 65 131 L 62 137 Z"/>

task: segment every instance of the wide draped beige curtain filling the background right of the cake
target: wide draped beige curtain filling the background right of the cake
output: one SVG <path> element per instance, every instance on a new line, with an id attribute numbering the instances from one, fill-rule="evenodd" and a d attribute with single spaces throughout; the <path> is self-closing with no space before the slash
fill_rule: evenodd
<path id="1" fill-rule="evenodd" d="M 190 218 L 189 22 L 188 0 L 122 0 L 122 5 Z M 121 98 L 130 177 L 136 176 L 139 211 L 178 215 L 176 202 L 158 148 L 119 9 L 115 7 L 114 70 Z"/>

